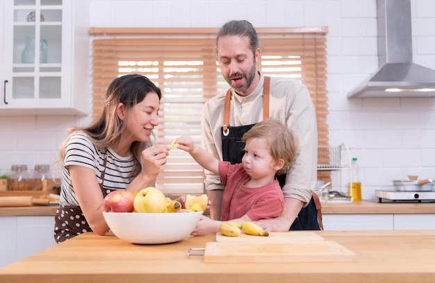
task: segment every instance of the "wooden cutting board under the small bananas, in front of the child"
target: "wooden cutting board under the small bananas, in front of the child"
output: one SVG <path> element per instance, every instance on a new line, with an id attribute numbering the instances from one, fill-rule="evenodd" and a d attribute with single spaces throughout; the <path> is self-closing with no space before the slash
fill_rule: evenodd
<path id="1" fill-rule="evenodd" d="M 324 241 L 322 236 L 311 231 L 270 232 L 268 237 L 240 234 L 238 237 L 228 237 L 220 232 L 216 241 L 261 242 L 261 243 L 291 243 L 295 241 Z"/>

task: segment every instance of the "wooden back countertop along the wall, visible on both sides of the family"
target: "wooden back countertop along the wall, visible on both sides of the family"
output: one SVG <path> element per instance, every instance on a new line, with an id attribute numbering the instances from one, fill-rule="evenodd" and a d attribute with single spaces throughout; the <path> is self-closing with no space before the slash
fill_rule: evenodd
<path id="1" fill-rule="evenodd" d="M 58 205 L 0 207 L 0 216 L 54 215 Z M 322 214 L 435 214 L 435 203 L 376 203 L 367 200 L 353 203 L 326 203 Z"/>

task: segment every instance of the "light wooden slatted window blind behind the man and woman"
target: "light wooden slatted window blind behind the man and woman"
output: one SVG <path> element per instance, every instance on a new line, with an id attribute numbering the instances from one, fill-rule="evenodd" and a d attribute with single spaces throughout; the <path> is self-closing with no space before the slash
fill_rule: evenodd
<path id="1" fill-rule="evenodd" d="M 162 90 L 156 138 L 170 144 L 190 135 L 201 144 L 201 110 L 229 85 L 216 62 L 216 28 L 91 28 L 92 116 L 103 108 L 106 87 L 125 74 L 142 74 Z M 315 103 L 319 146 L 328 145 L 326 92 L 327 28 L 257 28 L 261 44 L 258 69 L 266 76 L 301 80 Z M 174 149 L 156 187 L 165 194 L 202 194 L 204 171 Z"/>

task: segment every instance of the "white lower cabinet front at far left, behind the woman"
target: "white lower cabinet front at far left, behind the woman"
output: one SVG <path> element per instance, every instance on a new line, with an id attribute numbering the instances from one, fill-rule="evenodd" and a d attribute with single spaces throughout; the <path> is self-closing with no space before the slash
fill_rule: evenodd
<path id="1" fill-rule="evenodd" d="M 1 216 L 0 267 L 56 245 L 54 216 Z"/>

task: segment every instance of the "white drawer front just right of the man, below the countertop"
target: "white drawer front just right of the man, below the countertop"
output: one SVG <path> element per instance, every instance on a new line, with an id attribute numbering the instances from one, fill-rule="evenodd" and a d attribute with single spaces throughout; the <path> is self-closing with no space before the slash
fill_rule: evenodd
<path id="1" fill-rule="evenodd" d="M 393 214 L 323 214 L 325 230 L 394 230 Z"/>

